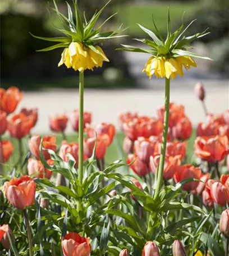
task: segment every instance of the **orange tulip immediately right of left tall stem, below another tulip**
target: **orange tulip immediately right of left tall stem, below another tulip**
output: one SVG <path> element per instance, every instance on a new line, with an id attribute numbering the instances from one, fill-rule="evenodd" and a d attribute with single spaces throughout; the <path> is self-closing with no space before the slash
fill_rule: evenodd
<path id="1" fill-rule="evenodd" d="M 96 141 L 96 148 L 95 148 L 95 158 L 103 159 L 107 153 L 107 148 L 109 146 L 109 136 L 108 134 L 103 134 L 96 138 L 88 138 L 84 140 L 84 153 L 86 157 L 91 157 L 93 154 L 93 149 L 95 147 Z"/>

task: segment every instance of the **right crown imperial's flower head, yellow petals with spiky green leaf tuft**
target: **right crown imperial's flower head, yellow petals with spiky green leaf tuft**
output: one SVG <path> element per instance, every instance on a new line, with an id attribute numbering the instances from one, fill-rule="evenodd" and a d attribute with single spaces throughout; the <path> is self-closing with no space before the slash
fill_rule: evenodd
<path id="1" fill-rule="evenodd" d="M 129 52 L 142 52 L 149 53 L 152 57 L 146 62 L 143 72 L 151 79 L 153 75 L 155 77 L 166 77 L 167 79 L 175 79 L 177 75 L 183 76 L 183 67 L 188 70 L 191 67 L 196 67 L 196 62 L 193 58 L 203 58 L 210 60 L 207 57 L 199 56 L 198 54 L 187 51 L 190 48 L 190 43 L 200 38 L 201 36 L 209 34 L 205 30 L 202 33 L 198 33 L 191 36 L 184 36 L 185 31 L 193 24 L 195 20 L 191 21 L 190 24 L 183 30 L 184 24 L 178 28 L 174 33 L 171 33 L 170 25 L 170 11 L 168 11 L 167 21 L 167 38 L 164 40 L 159 33 L 157 26 L 153 20 L 155 29 L 157 30 L 158 36 L 153 31 L 144 28 L 140 24 L 140 28 L 150 36 L 151 39 L 134 39 L 141 43 L 148 45 L 150 48 L 136 48 L 131 45 L 123 45 L 123 51 Z"/>

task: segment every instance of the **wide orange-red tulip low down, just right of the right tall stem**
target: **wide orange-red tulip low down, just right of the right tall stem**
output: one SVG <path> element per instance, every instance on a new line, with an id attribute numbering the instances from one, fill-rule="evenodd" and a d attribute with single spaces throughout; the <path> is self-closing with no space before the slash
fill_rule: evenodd
<path id="1" fill-rule="evenodd" d="M 199 180 L 202 175 L 200 168 L 196 168 L 191 164 L 184 164 L 183 166 L 177 166 L 177 171 L 174 175 L 174 180 L 176 183 L 194 178 Z M 198 181 L 189 181 L 185 185 L 182 186 L 183 190 L 191 191 L 197 188 L 199 182 Z"/>

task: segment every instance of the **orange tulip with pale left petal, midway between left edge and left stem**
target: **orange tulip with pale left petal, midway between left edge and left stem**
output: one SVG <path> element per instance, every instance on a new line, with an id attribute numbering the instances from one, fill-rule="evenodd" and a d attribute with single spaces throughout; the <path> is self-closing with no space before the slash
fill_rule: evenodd
<path id="1" fill-rule="evenodd" d="M 39 147 L 41 142 L 42 148 L 44 149 L 51 149 L 53 151 L 56 151 L 57 149 L 56 136 L 43 136 L 43 140 L 39 135 L 32 136 L 29 139 L 29 150 L 33 154 L 33 156 L 38 160 L 40 159 Z M 43 157 L 45 160 L 48 160 L 50 158 L 50 154 L 47 150 L 44 149 L 42 149 Z"/>

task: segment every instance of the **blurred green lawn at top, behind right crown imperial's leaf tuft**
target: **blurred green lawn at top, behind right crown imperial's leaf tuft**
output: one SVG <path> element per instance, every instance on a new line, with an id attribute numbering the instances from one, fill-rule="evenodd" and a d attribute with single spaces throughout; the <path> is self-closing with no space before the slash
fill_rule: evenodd
<path id="1" fill-rule="evenodd" d="M 146 2 L 146 3 L 128 3 L 121 4 L 117 8 L 118 23 L 123 23 L 124 27 L 131 36 L 143 36 L 144 31 L 139 28 L 139 23 L 150 30 L 154 30 L 152 14 L 154 21 L 162 34 L 166 34 L 167 12 L 170 8 L 171 24 L 180 24 L 183 13 L 187 16 L 193 16 L 198 9 L 198 2 Z"/>

